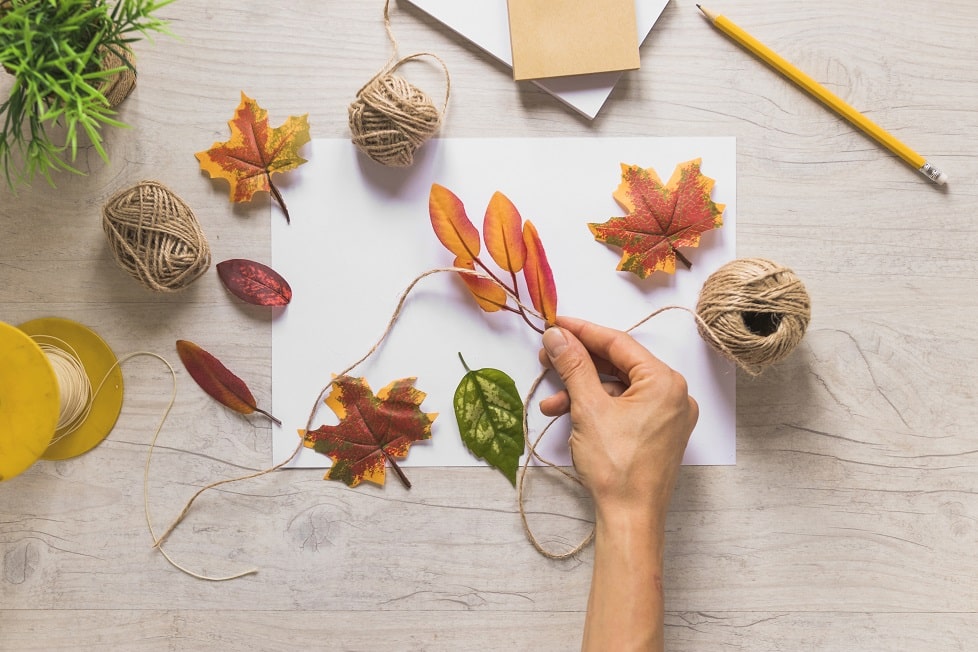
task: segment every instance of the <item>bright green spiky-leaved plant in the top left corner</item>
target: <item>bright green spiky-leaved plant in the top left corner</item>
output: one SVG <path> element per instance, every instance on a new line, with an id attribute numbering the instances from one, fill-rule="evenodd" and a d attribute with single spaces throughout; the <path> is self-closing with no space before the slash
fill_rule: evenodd
<path id="1" fill-rule="evenodd" d="M 108 161 L 101 130 L 135 84 L 130 46 L 169 33 L 155 12 L 173 0 L 0 0 L 0 65 L 13 76 L 0 104 L 7 184 L 80 173 L 80 139 Z M 2 75 L 2 73 L 0 73 Z M 85 143 L 84 140 L 81 141 Z"/>

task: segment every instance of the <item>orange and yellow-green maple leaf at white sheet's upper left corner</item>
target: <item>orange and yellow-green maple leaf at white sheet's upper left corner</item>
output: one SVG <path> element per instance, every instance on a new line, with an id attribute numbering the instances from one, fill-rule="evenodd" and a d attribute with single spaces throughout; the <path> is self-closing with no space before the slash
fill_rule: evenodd
<path id="1" fill-rule="evenodd" d="M 272 183 L 272 174 L 297 168 L 306 162 L 299 148 L 309 142 L 308 114 L 289 116 L 280 127 L 268 125 L 268 112 L 241 93 L 241 104 L 228 122 L 231 139 L 197 152 L 200 169 L 212 179 L 231 184 L 231 201 L 250 201 L 258 191 L 272 193 L 289 221 L 289 209 Z"/>

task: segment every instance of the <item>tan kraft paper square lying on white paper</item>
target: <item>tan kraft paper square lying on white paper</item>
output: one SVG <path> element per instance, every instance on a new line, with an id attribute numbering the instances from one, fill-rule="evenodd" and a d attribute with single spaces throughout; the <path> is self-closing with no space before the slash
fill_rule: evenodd
<path id="1" fill-rule="evenodd" d="M 639 67 L 634 0 L 508 0 L 513 79 Z"/>

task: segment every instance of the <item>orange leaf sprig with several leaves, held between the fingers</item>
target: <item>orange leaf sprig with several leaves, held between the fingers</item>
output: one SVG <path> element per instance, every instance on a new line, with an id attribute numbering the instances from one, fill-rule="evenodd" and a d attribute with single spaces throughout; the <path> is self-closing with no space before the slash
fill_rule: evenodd
<path id="1" fill-rule="evenodd" d="M 501 192 L 493 194 L 483 220 L 482 238 L 493 262 L 510 280 L 504 281 L 480 258 L 482 242 L 479 230 L 469 219 L 462 201 L 448 188 L 432 184 L 428 198 L 431 227 L 438 240 L 455 254 L 455 267 L 485 274 L 460 273 L 476 303 L 486 312 L 506 310 L 522 317 L 530 328 L 542 333 L 520 301 L 517 274 L 522 274 L 533 307 L 543 316 L 545 325 L 557 317 L 557 287 L 547 254 L 536 228 L 524 223 L 516 206 Z M 513 298 L 515 306 L 510 305 Z"/>

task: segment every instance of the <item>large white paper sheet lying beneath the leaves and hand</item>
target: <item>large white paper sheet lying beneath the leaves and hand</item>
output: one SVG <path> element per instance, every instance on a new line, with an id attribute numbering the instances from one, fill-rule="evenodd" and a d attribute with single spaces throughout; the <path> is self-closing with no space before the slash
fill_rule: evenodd
<path id="1" fill-rule="evenodd" d="M 320 389 L 364 355 L 391 318 L 398 297 L 422 272 L 450 266 L 428 216 L 433 182 L 455 192 L 480 229 L 496 190 L 507 195 L 539 231 L 553 268 L 558 312 L 628 328 L 656 308 L 693 308 L 706 277 L 735 258 L 736 145 L 733 138 L 434 139 L 412 167 L 386 168 L 347 140 L 314 140 L 309 162 L 283 175 L 280 188 L 292 224 L 272 209 L 272 266 L 292 286 L 292 303 L 272 327 L 272 408 L 284 425 L 273 429 L 276 462 L 298 443 Z M 724 225 L 686 253 L 692 270 L 640 280 L 615 270 L 620 251 L 594 241 L 588 222 L 622 215 L 612 198 L 621 163 L 653 167 L 668 180 L 674 167 L 701 157 L 716 179 L 713 199 L 726 204 Z M 686 376 L 700 420 L 687 464 L 735 462 L 735 372 L 698 336 L 693 318 L 663 313 L 633 334 Z M 451 273 L 422 280 L 408 296 L 384 344 L 352 375 L 378 391 L 417 377 L 425 412 L 438 412 L 430 441 L 411 447 L 404 466 L 483 464 L 462 445 L 452 398 L 472 369 L 509 374 L 525 396 L 540 371 L 540 336 L 512 313 L 482 312 Z M 546 381 L 531 404 L 530 427 L 546 423 L 536 402 L 559 387 Z M 320 406 L 313 427 L 336 418 Z M 567 419 L 547 433 L 541 453 L 569 464 Z M 293 463 L 326 467 L 329 459 L 303 450 Z"/>

